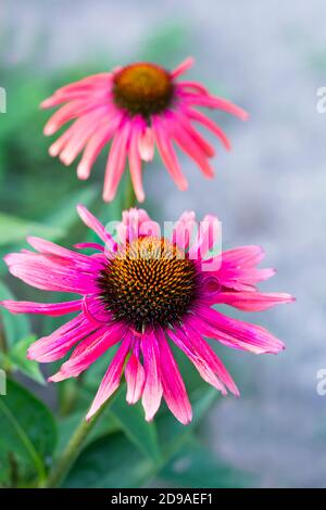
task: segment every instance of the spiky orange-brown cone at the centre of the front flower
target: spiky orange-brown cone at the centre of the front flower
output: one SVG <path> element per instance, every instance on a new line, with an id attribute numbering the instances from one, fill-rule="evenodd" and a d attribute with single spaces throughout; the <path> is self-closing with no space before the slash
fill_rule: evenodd
<path id="1" fill-rule="evenodd" d="M 179 323 L 198 293 L 198 272 L 166 239 L 139 238 L 117 252 L 99 278 L 105 308 L 136 331 Z"/>

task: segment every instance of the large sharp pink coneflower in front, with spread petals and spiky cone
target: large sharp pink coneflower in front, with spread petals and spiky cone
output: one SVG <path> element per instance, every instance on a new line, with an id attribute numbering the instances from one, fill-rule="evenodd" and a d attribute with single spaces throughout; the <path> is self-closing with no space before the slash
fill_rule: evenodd
<path id="1" fill-rule="evenodd" d="M 141 399 L 146 420 L 153 419 L 164 398 L 177 420 L 189 423 L 191 405 L 172 344 L 223 395 L 239 392 L 204 337 L 254 354 L 276 354 L 284 348 L 264 328 L 218 311 L 220 304 L 260 311 L 292 297 L 256 289 L 274 275 L 272 269 L 256 267 L 264 257 L 261 247 L 240 246 L 211 255 L 215 217 L 206 216 L 205 228 L 199 231 L 195 214 L 184 213 L 167 239 L 143 209 L 124 212 L 116 235 L 86 207 L 78 206 L 78 213 L 101 244 L 82 243 L 71 251 L 28 238 L 35 252 L 23 250 L 4 259 L 10 272 L 25 283 L 80 297 L 57 304 L 3 301 L 1 305 L 14 314 L 76 313 L 28 349 L 28 357 L 39 362 L 57 361 L 73 349 L 50 381 L 77 378 L 112 346 L 117 348 L 88 418 L 116 391 L 124 373 L 126 399 L 129 404 Z M 84 248 L 93 253 L 82 253 Z"/>

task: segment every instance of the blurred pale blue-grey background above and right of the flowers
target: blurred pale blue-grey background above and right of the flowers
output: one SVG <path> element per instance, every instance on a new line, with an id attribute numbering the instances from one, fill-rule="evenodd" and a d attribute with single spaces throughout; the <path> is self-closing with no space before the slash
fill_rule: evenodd
<path id="1" fill-rule="evenodd" d="M 181 193 L 163 166 L 148 167 L 148 205 L 155 204 L 161 219 L 174 219 L 184 209 L 216 214 L 225 247 L 256 243 L 266 248 L 266 264 L 278 273 L 263 288 L 297 297 L 294 305 L 248 316 L 284 340 L 284 354 L 255 357 L 218 349 L 242 395 L 218 400 L 205 428 L 208 444 L 259 473 L 261 486 L 326 486 L 326 396 L 316 393 L 316 372 L 326 368 L 326 114 L 316 111 L 316 90 L 326 86 L 325 2 L 0 4 L 1 26 L 14 34 L 12 63 L 24 61 L 43 34 L 45 67 L 106 53 L 110 62 L 126 63 L 150 54 L 149 34 L 166 26 L 178 42 L 164 63 L 174 66 L 192 54 L 197 65 L 188 76 L 250 112 L 246 124 L 213 114 L 233 142 L 233 151 L 221 148 L 213 162 L 214 181 L 204 180 L 185 157 L 190 186 Z"/>

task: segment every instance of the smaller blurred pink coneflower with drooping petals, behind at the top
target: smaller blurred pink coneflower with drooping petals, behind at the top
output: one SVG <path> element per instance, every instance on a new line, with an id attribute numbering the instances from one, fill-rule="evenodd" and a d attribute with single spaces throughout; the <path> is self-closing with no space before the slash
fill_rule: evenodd
<path id="1" fill-rule="evenodd" d="M 83 152 L 77 166 L 79 179 L 88 179 L 102 149 L 112 141 L 109 152 L 103 200 L 114 199 L 127 161 L 136 197 L 145 200 L 141 162 L 150 162 L 156 146 L 168 174 L 180 190 L 187 189 L 174 143 L 212 178 L 209 160 L 214 148 L 196 129 L 201 125 L 213 132 L 229 150 L 223 130 L 199 107 L 223 110 L 244 120 L 247 113 L 231 102 L 212 95 L 197 81 L 179 80 L 192 65 L 186 59 L 174 71 L 147 62 L 118 67 L 111 73 L 88 76 L 57 90 L 42 102 L 45 109 L 61 106 L 48 120 L 45 135 L 71 126 L 52 143 L 50 155 L 71 165 Z"/>

